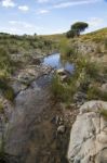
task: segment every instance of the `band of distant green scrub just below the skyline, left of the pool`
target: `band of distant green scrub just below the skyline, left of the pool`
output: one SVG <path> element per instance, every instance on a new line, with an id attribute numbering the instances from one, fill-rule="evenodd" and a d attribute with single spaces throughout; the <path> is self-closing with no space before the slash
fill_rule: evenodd
<path id="1" fill-rule="evenodd" d="M 31 52 L 49 53 L 56 48 L 51 39 L 45 39 L 41 36 L 17 36 L 0 33 L 0 48 L 5 49 L 9 54 L 26 54 Z"/>

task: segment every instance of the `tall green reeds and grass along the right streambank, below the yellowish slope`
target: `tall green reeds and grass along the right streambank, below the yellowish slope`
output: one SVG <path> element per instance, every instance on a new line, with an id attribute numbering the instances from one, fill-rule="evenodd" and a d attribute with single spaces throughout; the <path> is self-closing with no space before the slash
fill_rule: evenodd
<path id="1" fill-rule="evenodd" d="M 107 92 L 103 92 L 99 87 L 103 84 L 103 78 L 106 77 L 107 66 L 104 63 L 92 61 L 90 55 L 82 55 L 68 39 L 62 39 L 59 47 L 63 59 L 75 63 L 75 74 L 66 84 L 62 84 L 58 77 L 53 79 L 52 91 L 54 97 L 69 103 L 69 101 L 73 101 L 77 91 L 82 91 L 86 95 L 88 100 L 106 101 Z M 99 52 L 99 50 L 97 51 Z"/>

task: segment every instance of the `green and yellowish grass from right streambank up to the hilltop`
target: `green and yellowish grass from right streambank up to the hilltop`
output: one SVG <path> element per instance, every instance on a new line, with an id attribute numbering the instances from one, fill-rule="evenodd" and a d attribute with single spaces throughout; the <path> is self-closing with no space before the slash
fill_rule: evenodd
<path id="1" fill-rule="evenodd" d="M 54 97 L 69 103 L 77 90 L 88 95 L 88 100 L 104 100 L 107 101 L 107 93 L 99 90 L 103 79 L 107 78 L 107 66 L 102 62 L 92 61 L 90 57 L 98 57 L 107 50 L 107 28 L 99 29 L 94 33 L 85 34 L 75 39 L 58 38 L 61 54 L 63 59 L 75 63 L 75 75 L 71 79 L 63 84 L 59 79 L 53 79 L 52 91 Z M 96 45 L 92 55 L 89 53 L 84 57 L 78 51 L 78 42 Z M 78 84 L 77 84 L 78 83 Z M 92 85 L 92 86 L 91 86 Z M 69 98 L 70 97 L 70 98 Z"/>

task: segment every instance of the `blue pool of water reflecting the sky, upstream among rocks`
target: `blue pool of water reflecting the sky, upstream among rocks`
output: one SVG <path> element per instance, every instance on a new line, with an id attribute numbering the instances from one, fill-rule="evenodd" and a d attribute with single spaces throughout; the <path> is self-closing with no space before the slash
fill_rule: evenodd
<path id="1" fill-rule="evenodd" d="M 45 57 L 43 59 L 43 64 L 50 65 L 56 70 L 65 68 L 69 73 L 73 72 L 73 64 L 70 63 L 69 61 L 62 60 L 59 53 L 55 53 L 55 54 Z"/>

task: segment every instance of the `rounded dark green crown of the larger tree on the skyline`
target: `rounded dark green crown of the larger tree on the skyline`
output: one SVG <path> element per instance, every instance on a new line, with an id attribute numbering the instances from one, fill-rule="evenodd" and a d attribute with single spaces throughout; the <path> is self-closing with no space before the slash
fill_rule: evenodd
<path id="1" fill-rule="evenodd" d="M 77 22 L 75 24 L 71 25 L 71 30 L 77 35 L 79 36 L 80 33 L 84 32 L 85 28 L 89 27 L 89 24 L 88 23 L 84 23 L 84 22 Z"/>

